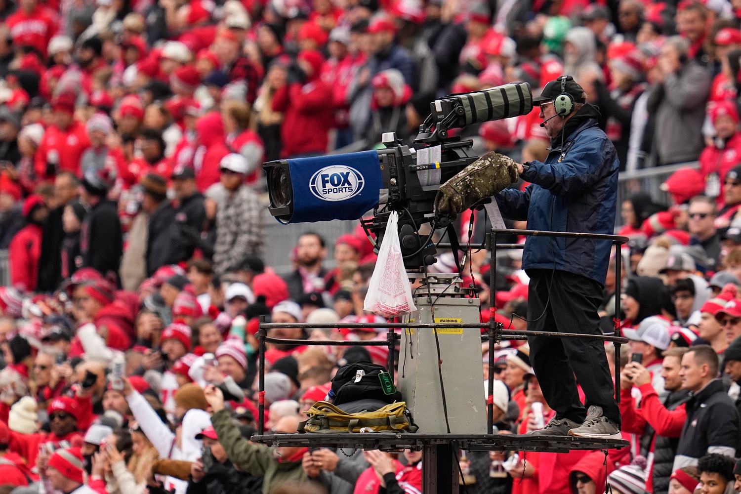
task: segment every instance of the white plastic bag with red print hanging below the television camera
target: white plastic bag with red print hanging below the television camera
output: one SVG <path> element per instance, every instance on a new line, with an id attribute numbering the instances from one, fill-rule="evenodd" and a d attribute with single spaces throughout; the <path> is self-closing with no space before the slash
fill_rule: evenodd
<path id="1" fill-rule="evenodd" d="M 363 309 L 386 318 L 416 310 L 399 245 L 398 222 L 399 214 L 392 211 L 363 304 Z"/>

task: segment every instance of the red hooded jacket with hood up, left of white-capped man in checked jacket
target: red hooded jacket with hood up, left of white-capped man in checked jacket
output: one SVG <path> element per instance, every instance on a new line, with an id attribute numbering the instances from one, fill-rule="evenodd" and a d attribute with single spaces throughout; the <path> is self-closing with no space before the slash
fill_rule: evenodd
<path id="1" fill-rule="evenodd" d="M 219 181 L 222 173 L 219 165 L 229 154 L 222 116 L 218 112 L 207 113 L 196 122 L 196 134 L 201 145 L 196 148 L 193 165 L 196 171 L 196 185 L 203 192 Z"/>

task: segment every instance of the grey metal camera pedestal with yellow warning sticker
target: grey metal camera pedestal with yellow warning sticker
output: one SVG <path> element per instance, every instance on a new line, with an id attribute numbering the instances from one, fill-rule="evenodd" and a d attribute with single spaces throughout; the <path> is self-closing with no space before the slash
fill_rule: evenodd
<path id="1" fill-rule="evenodd" d="M 419 278 L 419 273 L 409 276 Z M 422 277 L 425 281 L 414 291 L 417 310 L 405 316 L 405 323 L 479 322 L 479 298 L 465 298 L 471 290 L 460 286 L 458 275 L 435 273 Z M 486 433 L 481 355 L 481 331 L 476 328 L 405 328 L 397 387 L 419 433 Z"/>

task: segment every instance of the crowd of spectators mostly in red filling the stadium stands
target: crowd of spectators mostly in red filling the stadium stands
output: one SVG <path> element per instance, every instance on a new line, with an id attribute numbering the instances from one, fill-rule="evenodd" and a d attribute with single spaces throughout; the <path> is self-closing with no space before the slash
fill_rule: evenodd
<path id="1" fill-rule="evenodd" d="M 419 451 L 250 441 L 260 400 L 268 430 L 293 433 L 339 367 L 389 361 L 382 346 L 268 344 L 257 392 L 260 316 L 383 321 L 363 310 L 376 256 L 362 230 L 307 228 L 290 272 L 265 265 L 260 165 L 389 131 L 412 144 L 439 96 L 509 81 L 538 94 L 562 74 L 599 107 L 622 171 L 686 165 L 662 184 L 671 204 L 628 184 L 631 241 L 599 294 L 602 329 L 631 340 L 617 367 L 605 346 L 631 446 L 459 451 L 461 489 L 739 492 L 740 28 L 738 0 L 0 0 L 0 493 L 419 494 Z M 542 161 L 540 122 L 535 108 L 452 135 Z M 459 218 L 461 244 L 482 239 L 482 215 Z M 496 317 L 525 330 L 516 252 L 497 262 Z M 488 253 L 469 261 L 487 320 Z M 455 264 L 441 253 L 431 270 Z M 481 358 L 500 433 L 554 415 L 522 341 Z"/>

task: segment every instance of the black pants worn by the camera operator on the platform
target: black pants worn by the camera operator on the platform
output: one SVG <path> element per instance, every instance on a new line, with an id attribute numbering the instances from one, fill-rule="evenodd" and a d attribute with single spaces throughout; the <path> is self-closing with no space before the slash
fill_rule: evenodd
<path id="1" fill-rule="evenodd" d="M 528 330 L 602 334 L 597 315 L 602 286 L 597 281 L 562 270 L 527 270 L 527 273 L 530 276 L 528 319 L 533 321 L 542 315 L 528 323 Z M 602 341 L 530 336 L 528 343 L 535 375 L 545 401 L 556 410 L 556 418 L 581 424 L 586 409 L 597 405 L 607 418 L 620 425 L 620 410 Z M 585 404 L 579 400 L 574 375 L 584 391 Z"/>

